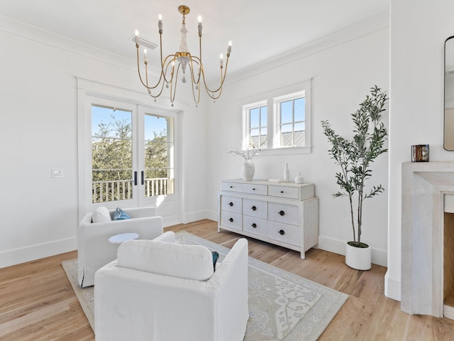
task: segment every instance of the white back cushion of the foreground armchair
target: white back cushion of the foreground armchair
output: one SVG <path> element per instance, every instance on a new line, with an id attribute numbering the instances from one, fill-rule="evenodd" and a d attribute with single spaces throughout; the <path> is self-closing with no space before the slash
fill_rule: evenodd
<path id="1" fill-rule="evenodd" d="M 118 247 L 118 266 L 178 278 L 207 281 L 214 272 L 213 255 L 201 245 L 131 240 Z"/>

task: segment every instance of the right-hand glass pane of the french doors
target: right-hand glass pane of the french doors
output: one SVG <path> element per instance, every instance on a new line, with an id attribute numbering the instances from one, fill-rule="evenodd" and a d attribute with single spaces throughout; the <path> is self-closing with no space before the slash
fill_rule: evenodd
<path id="1" fill-rule="evenodd" d="M 175 192 L 173 119 L 145 114 L 145 197 Z"/>

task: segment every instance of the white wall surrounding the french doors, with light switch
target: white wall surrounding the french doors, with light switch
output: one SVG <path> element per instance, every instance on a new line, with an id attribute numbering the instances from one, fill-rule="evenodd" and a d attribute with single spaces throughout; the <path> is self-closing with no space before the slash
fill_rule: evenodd
<path id="1" fill-rule="evenodd" d="M 4 17 L 0 17 L 0 43 L 4 46 L 0 77 L 0 267 L 4 267 L 77 248 L 76 77 L 145 91 L 132 60 Z M 147 99 L 154 105 L 153 99 Z M 190 101 L 180 105 L 185 109 L 185 196 L 182 212 L 175 214 L 181 221 L 206 217 L 205 111 L 203 105 L 196 109 Z M 167 101 L 161 102 L 169 107 Z M 63 178 L 51 178 L 52 168 L 62 169 Z"/>

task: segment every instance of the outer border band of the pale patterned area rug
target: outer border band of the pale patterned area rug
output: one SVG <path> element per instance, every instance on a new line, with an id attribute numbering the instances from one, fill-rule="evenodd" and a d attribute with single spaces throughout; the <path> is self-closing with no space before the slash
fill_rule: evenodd
<path id="1" fill-rule="evenodd" d="M 204 238 L 197 237 L 194 234 L 186 231 L 177 232 L 176 234 L 178 239 L 187 239 L 187 241 L 193 242 L 195 244 L 201 244 L 208 247 L 209 249 L 218 251 L 220 254 L 220 261 L 222 261 L 223 257 L 228 253 L 228 251 L 230 251 L 230 249 L 228 249 L 227 247 L 223 247 L 220 244 L 216 244 Z M 328 327 L 329 323 L 331 323 L 331 320 L 333 320 L 333 318 L 337 315 L 338 311 L 342 308 L 345 301 L 347 301 L 348 299 L 348 295 L 346 295 L 345 293 L 341 293 L 326 286 L 322 286 L 319 283 L 315 283 L 304 277 L 292 274 L 288 271 L 284 271 L 277 268 L 276 266 L 272 266 L 263 261 L 259 261 L 258 259 L 249 257 L 248 265 L 250 267 L 258 269 L 259 271 L 262 271 L 265 274 L 269 274 L 270 276 L 277 276 L 284 278 L 285 280 L 292 283 L 296 283 L 297 285 L 303 286 L 304 288 L 307 288 L 310 291 L 313 291 L 314 293 L 317 293 L 321 296 L 321 298 L 316 301 L 313 306 L 311 306 L 309 311 L 305 314 L 304 318 L 301 318 L 301 320 L 304 320 L 304 327 L 302 327 L 300 323 L 298 323 L 298 325 L 300 325 L 299 331 L 293 330 L 282 339 L 274 337 L 264 338 L 262 340 L 317 340 L 321 333 L 326 329 L 326 327 Z M 94 330 L 94 311 L 93 308 L 89 307 L 89 305 L 93 304 L 92 301 L 94 300 L 93 287 L 82 289 L 78 285 L 77 259 L 64 261 L 62 262 L 62 266 L 63 269 L 65 269 L 67 277 L 70 279 L 71 286 L 77 296 L 77 299 L 79 300 L 80 305 L 82 306 L 82 310 L 84 310 L 84 313 L 87 316 L 87 320 L 89 321 L 92 330 Z M 76 271 L 74 271 L 74 266 L 76 267 Z M 299 322 L 301 322 L 301 320 Z M 250 339 L 246 336 L 244 341 L 248 340 Z M 254 341 L 259 340 L 255 339 Z"/>

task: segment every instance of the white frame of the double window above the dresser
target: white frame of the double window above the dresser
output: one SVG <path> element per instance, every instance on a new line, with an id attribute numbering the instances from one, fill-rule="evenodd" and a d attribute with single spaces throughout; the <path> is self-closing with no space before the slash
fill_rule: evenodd
<path id="1" fill-rule="evenodd" d="M 289 99 L 305 98 L 305 145 L 280 146 L 279 104 Z M 249 147 L 250 119 L 249 110 L 267 105 L 267 146 L 261 148 L 264 155 L 311 153 L 311 80 L 288 85 L 275 90 L 253 94 L 243 99 L 243 149 Z"/>

